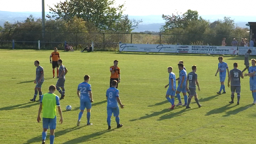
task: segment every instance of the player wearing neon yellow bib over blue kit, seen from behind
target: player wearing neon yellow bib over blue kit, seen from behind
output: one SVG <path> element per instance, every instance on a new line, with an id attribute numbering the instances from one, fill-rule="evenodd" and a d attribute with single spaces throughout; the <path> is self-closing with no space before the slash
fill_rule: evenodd
<path id="1" fill-rule="evenodd" d="M 50 144 L 54 142 L 54 130 L 56 129 L 56 106 L 58 106 L 58 111 L 60 114 L 60 124 L 62 124 L 62 112 L 60 108 L 60 99 L 54 94 L 56 87 L 51 85 L 49 87 L 49 92 L 42 95 L 40 107 L 38 110 L 37 122 L 41 121 L 41 111 L 43 111 L 43 132 L 42 132 L 42 144 L 46 140 L 46 132 L 50 127 Z"/>

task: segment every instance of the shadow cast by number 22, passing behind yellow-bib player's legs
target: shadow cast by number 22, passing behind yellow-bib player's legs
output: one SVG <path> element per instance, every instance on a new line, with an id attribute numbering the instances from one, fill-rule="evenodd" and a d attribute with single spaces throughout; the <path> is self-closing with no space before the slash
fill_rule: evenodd
<path id="1" fill-rule="evenodd" d="M 66 134 L 66 133 L 68 133 L 68 132 L 71 132 L 71 131 L 74 131 L 74 130 L 78 130 L 78 129 L 80 129 L 80 128 L 83 128 L 83 127 L 85 127 L 85 126 L 87 126 L 87 125 L 84 125 L 84 126 L 81 126 L 81 127 L 75 126 L 75 127 L 72 127 L 72 128 L 68 128 L 68 129 L 64 129 L 64 130 L 61 130 L 61 131 L 57 131 L 57 132 L 54 133 L 54 135 L 55 135 L 55 137 L 58 137 L 58 136 L 61 136 L 61 135 Z M 48 134 L 48 135 L 47 135 L 46 139 L 49 139 L 49 138 L 50 138 L 50 130 L 47 131 L 47 134 Z M 27 141 L 26 143 L 24 143 L 24 144 L 30 144 L 30 143 L 34 143 L 34 142 L 42 142 L 42 135 L 30 139 L 30 140 L 28 140 L 28 141 Z"/>

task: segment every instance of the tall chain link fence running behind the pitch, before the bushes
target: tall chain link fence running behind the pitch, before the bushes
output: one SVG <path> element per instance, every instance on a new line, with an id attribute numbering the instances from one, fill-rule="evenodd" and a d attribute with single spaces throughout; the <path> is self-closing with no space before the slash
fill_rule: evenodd
<path id="1" fill-rule="evenodd" d="M 43 36 L 44 34 L 44 36 Z M 249 37 L 249 36 L 248 36 Z M 38 40 L 41 49 L 57 47 L 64 50 L 64 42 L 74 49 L 81 50 L 94 43 L 95 51 L 117 51 L 119 42 L 133 44 L 178 44 L 178 45 L 212 45 L 220 46 L 226 38 L 227 46 L 231 46 L 233 38 L 225 35 L 179 35 L 179 34 L 125 34 L 125 33 L 70 33 L 70 32 L 25 32 L 0 31 L 0 48 L 11 48 L 15 41 L 15 49 L 37 49 Z"/>

